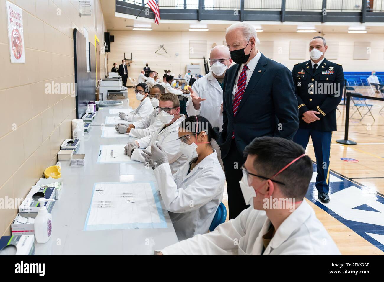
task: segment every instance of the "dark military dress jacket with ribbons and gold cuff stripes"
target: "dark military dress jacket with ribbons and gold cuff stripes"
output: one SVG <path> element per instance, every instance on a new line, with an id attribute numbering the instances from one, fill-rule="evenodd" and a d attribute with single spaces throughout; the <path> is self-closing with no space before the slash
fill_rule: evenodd
<path id="1" fill-rule="evenodd" d="M 313 73 L 311 61 L 295 64 L 292 70 L 299 109 L 299 128 L 319 131 L 336 131 L 336 108 L 344 89 L 344 73 L 341 64 L 324 58 Z M 315 110 L 320 114 L 307 124 L 303 113 Z"/>

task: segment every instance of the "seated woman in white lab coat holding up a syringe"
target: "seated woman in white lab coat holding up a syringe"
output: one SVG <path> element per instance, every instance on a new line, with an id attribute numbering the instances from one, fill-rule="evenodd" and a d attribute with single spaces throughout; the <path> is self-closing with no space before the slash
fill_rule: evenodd
<path id="1" fill-rule="evenodd" d="M 144 150 L 179 241 L 207 233 L 223 199 L 225 175 L 210 144 L 218 135 L 218 128 L 201 115 L 181 122 L 178 140 L 188 161 L 174 175 L 161 145 Z"/>

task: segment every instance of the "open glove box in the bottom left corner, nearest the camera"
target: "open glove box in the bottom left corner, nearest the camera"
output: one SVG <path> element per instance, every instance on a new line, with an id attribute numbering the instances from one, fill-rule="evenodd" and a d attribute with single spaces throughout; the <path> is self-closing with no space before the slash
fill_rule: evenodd
<path id="1" fill-rule="evenodd" d="M 35 254 L 35 235 L 3 236 L 0 238 L 0 253 L 12 254 L 8 246 L 15 246 L 15 256 L 33 256 Z"/>

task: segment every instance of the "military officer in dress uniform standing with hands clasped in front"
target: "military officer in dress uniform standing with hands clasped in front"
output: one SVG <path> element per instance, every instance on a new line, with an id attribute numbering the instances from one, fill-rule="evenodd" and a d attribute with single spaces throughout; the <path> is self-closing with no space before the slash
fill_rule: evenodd
<path id="1" fill-rule="evenodd" d="M 316 189 L 323 203 L 329 202 L 329 155 L 332 132 L 336 130 L 336 108 L 341 101 L 344 73 L 341 64 L 324 57 L 328 46 L 321 36 L 310 41 L 309 61 L 292 70 L 299 110 L 299 129 L 293 141 L 307 147 L 313 143 L 317 163 Z"/>

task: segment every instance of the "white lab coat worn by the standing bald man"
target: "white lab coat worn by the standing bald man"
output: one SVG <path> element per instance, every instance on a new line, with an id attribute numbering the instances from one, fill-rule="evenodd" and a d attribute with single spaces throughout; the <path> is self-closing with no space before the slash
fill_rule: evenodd
<path id="1" fill-rule="evenodd" d="M 200 109 L 195 110 L 192 102 L 192 98 L 186 103 L 187 114 L 190 115 L 202 115 L 212 124 L 212 127 L 218 127 L 219 131 L 223 129 L 223 111 L 221 104 L 223 102 L 223 89 L 220 87 L 217 79 L 212 75 L 210 71 L 202 78 L 195 81 L 192 86 L 192 90 L 199 97 L 206 99 L 201 102 Z"/>

